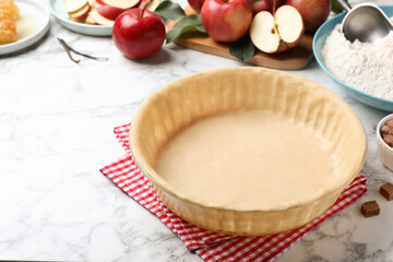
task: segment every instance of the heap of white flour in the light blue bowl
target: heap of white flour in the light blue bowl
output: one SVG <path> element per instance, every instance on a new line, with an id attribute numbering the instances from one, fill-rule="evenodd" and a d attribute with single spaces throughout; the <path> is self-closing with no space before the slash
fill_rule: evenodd
<path id="1" fill-rule="evenodd" d="M 322 49 L 327 69 L 354 88 L 393 100 L 393 32 L 374 45 L 350 43 L 340 26 L 333 29 Z"/>

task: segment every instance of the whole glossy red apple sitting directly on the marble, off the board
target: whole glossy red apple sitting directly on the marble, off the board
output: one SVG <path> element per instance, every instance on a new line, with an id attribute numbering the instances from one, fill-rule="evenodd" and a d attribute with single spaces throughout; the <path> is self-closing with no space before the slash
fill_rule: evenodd
<path id="1" fill-rule="evenodd" d="M 130 9 L 120 14 L 112 31 L 116 47 L 131 59 L 156 53 L 165 36 L 165 25 L 159 16 L 142 9 Z"/>

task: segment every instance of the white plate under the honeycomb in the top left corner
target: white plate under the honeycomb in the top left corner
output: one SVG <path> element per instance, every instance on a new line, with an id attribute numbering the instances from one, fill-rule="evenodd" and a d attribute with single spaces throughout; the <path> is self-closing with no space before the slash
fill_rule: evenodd
<path id="1" fill-rule="evenodd" d="M 7 45 L 0 45 L 0 56 L 25 49 L 36 44 L 49 29 L 49 14 L 33 0 L 15 0 L 20 10 L 20 19 L 16 22 L 17 40 Z M 28 24 L 28 32 L 22 29 L 22 24 Z"/>

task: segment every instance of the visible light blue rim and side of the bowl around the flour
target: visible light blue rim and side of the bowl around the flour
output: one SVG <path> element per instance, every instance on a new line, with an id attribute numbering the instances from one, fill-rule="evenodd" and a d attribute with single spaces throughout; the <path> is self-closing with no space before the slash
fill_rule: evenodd
<path id="1" fill-rule="evenodd" d="M 380 8 L 383 10 L 383 12 L 385 12 L 389 17 L 393 16 L 393 5 L 381 5 Z M 326 37 L 331 34 L 331 32 L 337 24 L 342 23 L 344 16 L 345 13 L 334 16 L 333 19 L 326 21 L 323 25 L 321 25 L 321 27 L 317 31 L 312 43 L 312 49 L 318 63 L 321 66 L 323 71 L 325 71 L 342 88 L 344 88 L 355 99 L 382 110 L 393 111 L 393 100 L 382 99 L 377 96 L 360 92 L 338 80 L 326 68 L 321 50 L 324 46 Z"/>

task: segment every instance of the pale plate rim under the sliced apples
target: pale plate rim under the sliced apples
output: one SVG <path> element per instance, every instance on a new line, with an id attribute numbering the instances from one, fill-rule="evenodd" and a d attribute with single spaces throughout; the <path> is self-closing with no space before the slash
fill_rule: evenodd
<path id="1" fill-rule="evenodd" d="M 70 21 L 68 14 L 61 11 L 63 9 L 63 2 L 64 0 L 49 0 L 50 11 L 62 26 L 84 35 L 111 36 L 111 25 L 90 25 Z"/>

